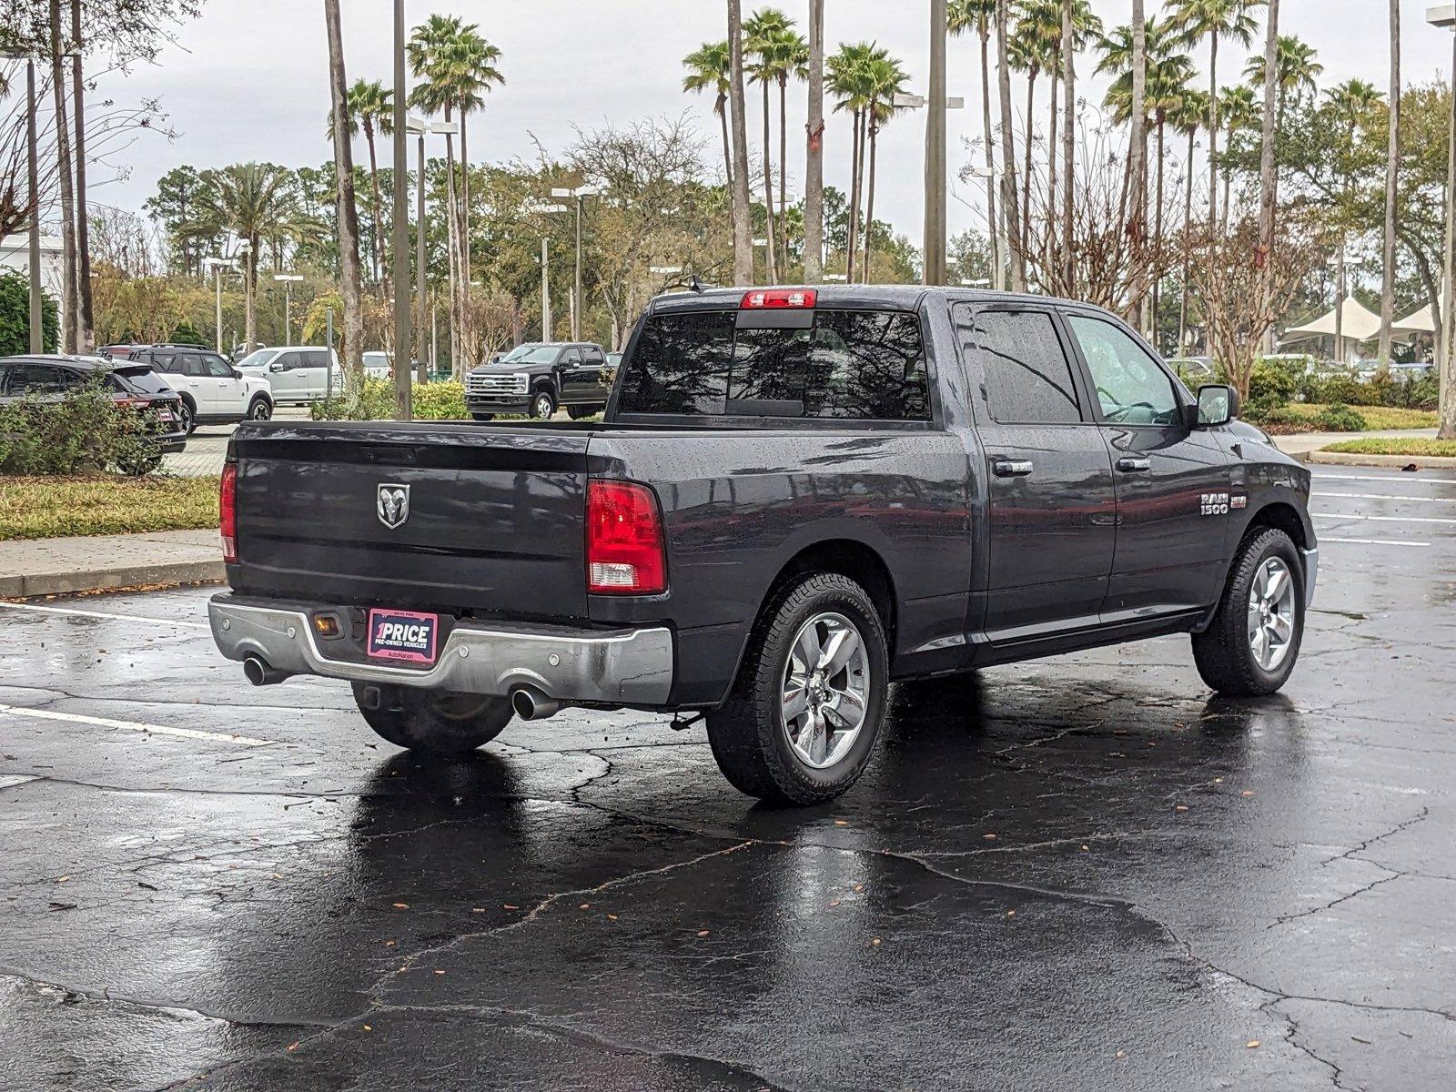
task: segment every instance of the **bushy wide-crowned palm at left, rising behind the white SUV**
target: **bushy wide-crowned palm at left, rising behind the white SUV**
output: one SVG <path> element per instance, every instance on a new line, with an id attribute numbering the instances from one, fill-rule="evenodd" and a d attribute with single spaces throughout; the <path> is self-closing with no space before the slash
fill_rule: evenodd
<path id="1" fill-rule="evenodd" d="M 296 175 L 277 163 L 234 163 L 204 172 L 208 186 L 197 220 L 185 230 L 213 237 L 232 232 L 249 246 L 243 296 L 246 339 L 256 342 L 258 256 L 266 239 L 275 246 L 284 239 L 303 242 L 316 230 L 298 208 Z"/>

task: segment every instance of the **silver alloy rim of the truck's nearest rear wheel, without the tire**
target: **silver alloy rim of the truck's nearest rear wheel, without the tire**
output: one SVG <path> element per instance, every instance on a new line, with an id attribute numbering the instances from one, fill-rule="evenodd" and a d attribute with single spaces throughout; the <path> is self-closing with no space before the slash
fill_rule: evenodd
<path id="1" fill-rule="evenodd" d="M 815 770 L 843 759 L 865 727 L 869 661 L 859 629 L 837 612 L 799 628 L 783 668 L 780 722 L 789 747 Z"/>

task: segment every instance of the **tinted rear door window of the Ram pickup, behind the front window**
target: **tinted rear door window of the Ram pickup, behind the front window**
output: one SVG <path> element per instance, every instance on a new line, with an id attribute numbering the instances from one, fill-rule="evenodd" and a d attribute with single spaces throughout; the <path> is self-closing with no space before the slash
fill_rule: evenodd
<path id="1" fill-rule="evenodd" d="M 958 312 L 964 323 L 968 312 Z M 999 425 L 1066 425 L 1082 421 L 1072 363 L 1048 312 L 983 310 L 962 336 L 978 354 L 983 393 Z"/>

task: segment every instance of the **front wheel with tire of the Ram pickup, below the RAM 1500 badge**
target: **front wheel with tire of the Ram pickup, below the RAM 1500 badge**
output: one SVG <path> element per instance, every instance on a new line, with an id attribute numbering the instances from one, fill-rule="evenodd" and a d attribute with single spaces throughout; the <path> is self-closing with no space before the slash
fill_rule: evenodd
<path id="1" fill-rule="evenodd" d="M 1264 527 L 1245 536 L 1213 622 L 1192 635 L 1192 658 L 1204 683 L 1241 697 L 1284 686 L 1305 636 L 1303 572 L 1284 531 Z"/>

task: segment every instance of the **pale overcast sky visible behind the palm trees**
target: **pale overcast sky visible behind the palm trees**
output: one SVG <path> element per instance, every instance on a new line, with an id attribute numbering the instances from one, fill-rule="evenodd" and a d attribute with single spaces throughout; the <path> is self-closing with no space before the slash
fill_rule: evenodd
<path id="1" fill-rule="evenodd" d="M 744 12 L 757 4 L 745 0 Z M 799 20 L 805 0 L 780 0 Z M 389 80 L 392 9 L 389 0 L 344 0 L 344 44 L 348 77 Z M 927 67 L 926 0 L 828 0 L 826 39 L 875 39 L 901 58 L 916 90 L 925 90 Z M 1109 26 L 1127 22 L 1130 0 L 1092 0 Z M 1425 25 L 1425 0 L 1402 0 L 1402 68 L 1406 83 L 1427 80 L 1450 68 L 1449 32 Z M 1159 10 L 1147 0 L 1147 10 Z M 431 13 L 460 15 L 480 26 L 502 50 L 507 83 L 495 89 L 470 128 L 472 159 L 499 160 L 533 154 L 531 135 L 552 153 L 572 140 L 572 125 L 594 128 L 649 115 L 687 109 L 705 137 L 705 159 L 716 166 L 721 153 L 711 96 L 681 92 L 681 58 L 700 42 L 727 33 L 722 0 L 408 0 L 411 25 Z M 1284 0 L 1280 29 L 1296 33 L 1325 66 L 1324 84 L 1361 77 L 1388 84 L 1389 35 L 1385 0 Z M 1220 83 L 1233 82 L 1243 67 L 1236 48 L 1220 48 Z M 1207 80 L 1207 50 L 1194 52 Z M 322 0 L 207 0 L 204 15 L 182 26 L 178 44 L 156 66 L 128 77 L 109 76 L 99 95 L 121 103 L 156 98 L 179 134 L 167 141 L 147 135 L 128 149 L 130 176 L 92 191 L 96 201 L 140 208 L 156 179 L 179 163 L 197 167 L 243 160 L 272 160 L 287 166 L 317 165 L 331 157 L 325 141 L 328 114 L 328 50 Z M 1083 63 L 1085 68 L 1091 66 Z M 961 138 L 980 132 L 980 67 L 976 38 L 952 39 L 951 95 L 964 95 L 964 111 L 951 114 L 951 162 L 967 153 Z M 994 84 L 993 84 L 994 86 Z M 1086 89 L 1101 100 L 1104 84 Z M 757 89 L 751 89 L 757 92 Z M 1018 102 L 1025 84 L 1018 80 Z M 750 93 L 750 103 L 757 95 Z M 1038 86 L 1038 116 L 1045 108 L 1045 82 Z M 750 134 L 760 132 L 750 108 Z M 802 172 L 804 90 L 791 90 L 791 191 Z M 881 132 L 877 217 L 919 242 L 923 207 L 920 165 L 925 122 L 907 112 Z M 775 143 L 778 137 L 775 135 Z M 754 140 L 757 144 L 757 140 Z M 383 159 L 387 162 L 387 150 Z M 849 124 L 828 122 L 826 181 L 847 189 Z M 973 192 L 960 188 L 962 195 Z M 978 207 L 977 207 L 978 208 Z M 951 201 L 951 230 L 983 223 L 978 211 Z"/>

